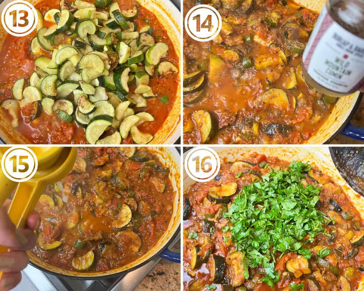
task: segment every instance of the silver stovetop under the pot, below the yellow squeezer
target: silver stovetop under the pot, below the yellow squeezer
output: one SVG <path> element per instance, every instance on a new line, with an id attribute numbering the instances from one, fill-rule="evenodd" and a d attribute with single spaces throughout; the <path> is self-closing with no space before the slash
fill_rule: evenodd
<path id="1" fill-rule="evenodd" d="M 169 249 L 180 248 L 180 234 Z M 126 275 L 104 280 L 73 280 L 47 274 L 28 265 L 22 273 L 20 284 L 13 291 L 131 291 L 159 263 L 158 256 L 139 269 Z"/>

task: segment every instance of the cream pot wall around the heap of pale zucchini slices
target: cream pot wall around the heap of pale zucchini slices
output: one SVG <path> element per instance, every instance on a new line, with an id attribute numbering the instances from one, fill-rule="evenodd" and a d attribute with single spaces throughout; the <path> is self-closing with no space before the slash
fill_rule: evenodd
<path id="1" fill-rule="evenodd" d="M 3 11 L 5 5 L 12 0 L 0 0 L 0 13 Z M 29 3 L 35 4 L 39 0 L 27 0 Z M 153 12 L 159 21 L 166 29 L 170 37 L 174 49 L 178 56 L 181 55 L 180 47 L 180 17 L 181 12 L 177 9 L 175 4 L 170 0 L 138 0 L 138 2 L 149 11 Z M 4 43 L 5 37 L 8 33 L 3 28 L 0 22 L 0 48 Z M 181 70 L 180 70 L 181 71 Z M 163 123 L 163 126 L 155 133 L 153 144 L 173 144 L 181 135 L 180 128 L 180 115 L 181 115 L 181 89 L 180 83 L 177 88 L 177 98 L 168 117 Z M 0 143 L 8 144 L 29 144 L 29 141 L 22 136 L 19 131 L 12 128 L 11 121 L 8 118 L 5 110 L 0 107 Z"/>

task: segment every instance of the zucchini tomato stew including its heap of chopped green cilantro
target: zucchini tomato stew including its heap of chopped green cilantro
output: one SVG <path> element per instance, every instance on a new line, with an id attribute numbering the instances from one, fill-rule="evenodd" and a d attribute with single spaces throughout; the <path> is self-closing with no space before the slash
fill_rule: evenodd
<path id="1" fill-rule="evenodd" d="M 184 290 L 354 291 L 364 224 L 318 168 L 253 154 L 187 189 Z"/>

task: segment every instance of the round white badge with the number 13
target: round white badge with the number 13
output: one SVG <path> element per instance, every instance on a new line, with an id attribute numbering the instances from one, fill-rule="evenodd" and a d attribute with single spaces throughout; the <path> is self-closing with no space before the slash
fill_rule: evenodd
<path id="1" fill-rule="evenodd" d="M 1 24 L 13 36 L 31 33 L 38 23 L 38 13 L 27 1 L 15 0 L 8 3 L 1 13 Z"/>

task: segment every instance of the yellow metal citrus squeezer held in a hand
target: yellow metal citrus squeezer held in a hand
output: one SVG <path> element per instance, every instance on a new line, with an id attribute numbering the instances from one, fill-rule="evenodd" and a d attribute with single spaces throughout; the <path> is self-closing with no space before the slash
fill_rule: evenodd
<path id="1" fill-rule="evenodd" d="M 0 148 L 0 158 L 8 148 Z M 24 228 L 27 217 L 34 210 L 40 195 L 46 187 L 62 180 L 68 175 L 75 164 L 77 156 L 76 147 L 32 147 L 38 159 L 38 169 L 32 179 L 16 183 L 10 181 L 0 171 L 0 206 L 9 197 L 17 185 L 8 215 L 17 228 Z M 0 254 L 9 251 L 8 247 L 0 246 Z M 0 272 L 0 279 L 2 272 Z"/>

